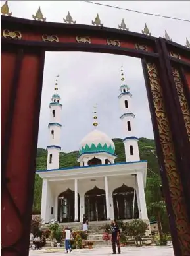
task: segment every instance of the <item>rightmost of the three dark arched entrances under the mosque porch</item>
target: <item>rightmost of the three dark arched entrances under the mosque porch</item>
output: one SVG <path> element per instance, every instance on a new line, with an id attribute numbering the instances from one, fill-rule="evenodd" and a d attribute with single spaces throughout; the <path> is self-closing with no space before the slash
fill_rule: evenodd
<path id="1" fill-rule="evenodd" d="M 135 202 L 133 203 L 133 200 Z M 139 211 L 137 205 L 137 196 L 133 187 L 128 187 L 122 185 L 113 191 L 113 201 L 114 201 L 114 216 L 117 220 L 129 220 L 134 218 L 139 218 Z M 134 206 L 134 213 L 133 213 Z"/>

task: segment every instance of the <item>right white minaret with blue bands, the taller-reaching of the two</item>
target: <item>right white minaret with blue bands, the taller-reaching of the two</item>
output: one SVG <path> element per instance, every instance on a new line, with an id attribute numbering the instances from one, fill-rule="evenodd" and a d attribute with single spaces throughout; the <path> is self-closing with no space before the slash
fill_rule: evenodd
<path id="1" fill-rule="evenodd" d="M 134 119 L 132 106 L 132 94 L 130 93 L 129 86 L 125 83 L 123 69 L 121 67 L 121 80 L 120 95 L 118 99 L 120 101 L 120 110 L 122 115 L 120 119 L 123 123 L 123 131 L 125 138 L 123 139 L 125 146 L 126 162 L 135 162 L 140 160 L 139 156 L 139 139 L 135 137 Z"/>

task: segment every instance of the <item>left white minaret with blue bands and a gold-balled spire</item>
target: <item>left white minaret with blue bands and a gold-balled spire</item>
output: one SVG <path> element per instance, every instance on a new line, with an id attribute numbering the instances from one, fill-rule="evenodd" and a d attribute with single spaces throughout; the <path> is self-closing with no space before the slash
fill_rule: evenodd
<path id="1" fill-rule="evenodd" d="M 57 75 L 55 80 L 55 91 L 58 90 L 58 79 Z M 49 146 L 47 146 L 47 170 L 49 169 L 59 169 L 59 153 L 60 147 L 60 133 L 61 127 L 61 109 L 62 104 L 60 104 L 59 94 L 53 94 L 51 98 L 51 103 L 49 104 L 50 109 L 50 121 L 48 124 L 49 128 Z"/>

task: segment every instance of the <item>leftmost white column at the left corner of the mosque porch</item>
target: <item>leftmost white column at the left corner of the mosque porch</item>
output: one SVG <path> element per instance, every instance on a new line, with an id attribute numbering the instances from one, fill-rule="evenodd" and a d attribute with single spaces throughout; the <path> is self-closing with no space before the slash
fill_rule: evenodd
<path id="1" fill-rule="evenodd" d="M 47 193 L 48 193 L 48 180 L 42 181 L 42 194 L 41 194 L 41 218 L 43 222 L 47 222 Z"/>

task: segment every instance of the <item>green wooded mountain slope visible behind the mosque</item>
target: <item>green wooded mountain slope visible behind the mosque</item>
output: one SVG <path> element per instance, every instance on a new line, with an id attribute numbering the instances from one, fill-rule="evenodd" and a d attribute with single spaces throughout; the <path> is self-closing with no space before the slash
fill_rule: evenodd
<path id="1" fill-rule="evenodd" d="M 118 156 L 115 162 L 126 162 L 124 143 L 122 139 L 112 139 L 116 146 L 115 154 Z M 155 155 L 155 143 L 152 139 L 140 138 L 139 139 L 139 153 L 141 160 L 148 161 L 147 177 L 154 177 L 154 173 L 160 175 L 158 160 Z M 69 166 L 80 166 L 79 162 L 76 161 L 78 158 L 78 151 L 73 151 L 70 153 L 60 152 L 60 168 Z M 36 170 L 45 170 L 47 164 L 47 150 L 43 148 L 37 148 L 37 158 L 36 158 Z M 41 187 L 42 180 L 36 174 L 35 184 L 34 184 L 34 204 L 33 212 L 39 213 L 41 208 Z"/>

